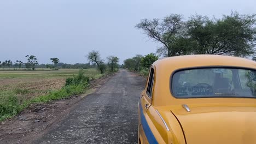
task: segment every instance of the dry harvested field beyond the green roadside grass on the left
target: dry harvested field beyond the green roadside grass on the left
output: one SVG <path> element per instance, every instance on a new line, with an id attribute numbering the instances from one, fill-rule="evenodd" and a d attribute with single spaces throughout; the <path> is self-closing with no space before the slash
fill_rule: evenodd
<path id="1" fill-rule="evenodd" d="M 85 69 L 85 76 L 100 77 L 96 69 Z M 65 85 L 67 77 L 77 75 L 76 69 L 0 71 L 0 103 L 9 94 L 18 95 L 20 102 L 40 95 L 46 95 Z"/>

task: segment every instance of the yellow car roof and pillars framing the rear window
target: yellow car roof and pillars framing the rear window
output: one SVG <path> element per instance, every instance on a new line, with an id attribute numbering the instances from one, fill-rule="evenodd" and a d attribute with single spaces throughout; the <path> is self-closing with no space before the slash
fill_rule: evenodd
<path id="1" fill-rule="evenodd" d="M 207 100 L 199 99 L 177 99 L 170 92 L 171 75 L 178 69 L 195 68 L 195 67 L 242 67 L 256 69 L 256 62 L 240 57 L 220 56 L 220 55 L 187 55 L 162 58 L 153 63 L 155 85 L 153 89 L 152 104 L 155 106 L 175 105 L 175 104 L 191 104 L 191 103 L 218 103 L 224 101 L 223 98 L 207 98 Z M 227 101 L 229 101 L 228 99 Z M 237 103 L 241 99 L 236 99 Z M 256 103 L 256 99 L 247 100 L 249 103 Z"/>

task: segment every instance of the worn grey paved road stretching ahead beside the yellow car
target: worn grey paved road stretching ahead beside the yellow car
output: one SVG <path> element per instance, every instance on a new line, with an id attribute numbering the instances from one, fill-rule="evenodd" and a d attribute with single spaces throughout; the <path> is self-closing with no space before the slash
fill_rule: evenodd
<path id="1" fill-rule="evenodd" d="M 143 86 L 142 77 L 120 70 L 32 143 L 137 143 L 137 104 Z"/>

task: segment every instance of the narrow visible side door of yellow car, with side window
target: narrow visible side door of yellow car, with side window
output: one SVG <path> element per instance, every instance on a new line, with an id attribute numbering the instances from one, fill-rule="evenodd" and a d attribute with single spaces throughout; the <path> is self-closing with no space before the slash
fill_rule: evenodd
<path id="1" fill-rule="evenodd" d="M 145 114 L 152 104 L 152 92 L 154 84 L 154 68 L 150 68 L 147 85 L 144 91 L 141 93 L 141 98 L 139 101 L 139 138 L 142 143 L 147 143 L 147 137 L 144 133 L 145 125 L 147 125 L 147 120 Z M 143 125 L 144 124 L 144 125 Z"/>

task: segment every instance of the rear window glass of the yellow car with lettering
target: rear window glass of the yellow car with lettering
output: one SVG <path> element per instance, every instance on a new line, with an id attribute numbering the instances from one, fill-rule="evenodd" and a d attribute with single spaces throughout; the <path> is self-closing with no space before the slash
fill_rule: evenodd
<path id="1" fill-rule="evenodd" d="M 256 98 L 255 70 L 201 68 L 181 70 L 172 76 L 171 92 L 177 98 Z"/>

